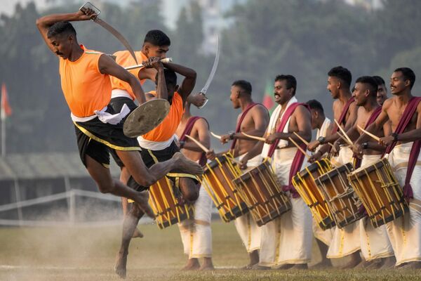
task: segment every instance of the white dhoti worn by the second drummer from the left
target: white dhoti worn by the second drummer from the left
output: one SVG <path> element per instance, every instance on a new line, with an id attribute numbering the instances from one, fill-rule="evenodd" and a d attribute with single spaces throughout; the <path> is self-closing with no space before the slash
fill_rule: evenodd
<path id="1" fill-rule="evenodd" d="M 241 160 L 242 157 L 243 155 L 239 159 Z M 262 157 L 260 155 L 248 160 L 248 169 L 246 171 L 259 166 L 260 163 L 262 163 Z M 260 249 L 260 227 L 255 223 L 250 213 L 236 218 L 234 225 L 248 253 Z"/>

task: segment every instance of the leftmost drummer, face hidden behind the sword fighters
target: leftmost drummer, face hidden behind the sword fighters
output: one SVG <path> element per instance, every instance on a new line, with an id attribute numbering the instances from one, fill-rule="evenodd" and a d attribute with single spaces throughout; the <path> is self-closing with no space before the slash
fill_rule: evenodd
<path id="1" fill-rule="evenodd" d="M 205 148 L 210 148 L 209 124 L 203 117 L 193 116 L 190 112 L 191 103 L 187 102 L 176 134 L 179 138 L 180 150 L 187 158 L 204 166 L 208 159 L 206 154 L 191 136 Z M 210 218 L 213 202 L 205 188 L 199 188 L 199 197 L 194 202 L 194 218 L 178 224 L 184 253 L 189 256 L 183 270 L 212 270 L 212 230 Z M 200 264 L 199 259 L 203 258 Z"/>

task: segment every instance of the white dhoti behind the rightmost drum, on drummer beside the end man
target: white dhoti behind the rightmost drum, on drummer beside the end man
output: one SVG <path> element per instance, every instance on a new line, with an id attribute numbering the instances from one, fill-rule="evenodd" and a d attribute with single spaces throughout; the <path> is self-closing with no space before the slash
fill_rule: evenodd
<path id="1" fill-rule="evenodd" d="M 363 155 L 361 167 L 370 166 L 380 160 L 380 155 Z M 361 237 L 361 254 L 366 261 L 373 259 L 385 258 L 393 256 L 393 248 L 387 235 L 387 228 L 385 225 L 374 228 L 370 219 L 361 218 L 360 223 L 360 237 Z"/>

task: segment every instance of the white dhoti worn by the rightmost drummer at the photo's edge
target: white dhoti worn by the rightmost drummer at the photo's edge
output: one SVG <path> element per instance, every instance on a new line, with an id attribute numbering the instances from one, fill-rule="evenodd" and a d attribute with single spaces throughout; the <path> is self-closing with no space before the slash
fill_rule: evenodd
<path id="1" fill-rule="evenodd" d="M 396 145 L 389 155 L 396 179 L 405 184 L 408 160 L 413 143 Z M 410 178 L 414 198 L 409 203 L 409 213 L 387 223 L 387 233 L 396 256 L 396 266 L 408 261 L 421 261 L 421 154 L 418 156 Z"/>

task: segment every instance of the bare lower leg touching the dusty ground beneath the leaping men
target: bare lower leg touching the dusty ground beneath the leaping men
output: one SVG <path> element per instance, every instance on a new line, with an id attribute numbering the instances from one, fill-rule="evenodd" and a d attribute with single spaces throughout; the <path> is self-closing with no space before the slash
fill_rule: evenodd
<path id="1" fill-rule="evenodd" d="M 147 192 L 143 192 L 147 197 Z M 143 216 L 143 211 L 138 204 L 133 204 L 130 211 L 124 216 L 123 221 L 123 235 L 121 237 L 120 250 L 117 253 L 116 266 L 114 270 L 121 278 L 126 278 L 126 264 L 128 256 L 128 245 L 130 244 L 133 232 L 138 226 L 139 219 Z"/>

